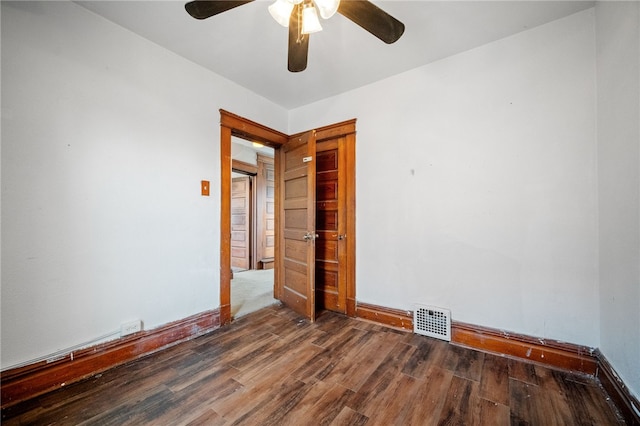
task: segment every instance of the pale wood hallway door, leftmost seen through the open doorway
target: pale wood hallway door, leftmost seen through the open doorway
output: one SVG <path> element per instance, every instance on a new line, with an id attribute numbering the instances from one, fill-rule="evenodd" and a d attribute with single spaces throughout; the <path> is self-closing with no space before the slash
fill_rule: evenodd
<path id="1" fill-rule="evenodd" d="M 251 178 L 236 177 L 231 183 L 231 267 L 251 265 Z"/>

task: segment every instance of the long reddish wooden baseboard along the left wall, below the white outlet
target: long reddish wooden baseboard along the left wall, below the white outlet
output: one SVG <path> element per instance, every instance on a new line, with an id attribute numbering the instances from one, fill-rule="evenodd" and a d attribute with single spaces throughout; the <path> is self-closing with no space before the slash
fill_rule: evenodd
<path id="1" fill-rule="evenodd" d="M 3 371 L 0 378 L 2 408 L 192 339 L 219 326 L 218 310 L 202 312 L 153 330 L 74 351 L 52 362 L 42 361 Z"/>

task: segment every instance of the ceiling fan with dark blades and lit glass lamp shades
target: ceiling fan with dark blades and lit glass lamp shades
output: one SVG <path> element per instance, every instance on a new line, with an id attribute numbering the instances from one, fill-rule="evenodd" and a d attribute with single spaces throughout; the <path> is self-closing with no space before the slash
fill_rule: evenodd
<path id="1" fill-rule="evenodd" d="M 187 3 L 187 13 L 196 19 L 206 19 L 254 0 L 195 0 Z M 276 0 L 269 6 L 271 16 L 289 27 L 288 69 L 291 72 L 307 68 L 309 34 L 322 30 L 318 12 L 323 19 L 339 14 L 387 44 L 396 42 L 404 33 L 404 24 L 368 0 Z"/>

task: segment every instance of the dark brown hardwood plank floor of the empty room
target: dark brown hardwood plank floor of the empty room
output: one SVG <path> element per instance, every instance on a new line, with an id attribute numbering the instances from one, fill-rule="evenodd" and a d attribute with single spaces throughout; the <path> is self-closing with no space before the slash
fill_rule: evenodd
<path id="1" fill-rule="evenodd" d="M 591 377 L 274 306 L 2 412 L 4 425 L 617 425 Z"/>

